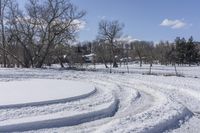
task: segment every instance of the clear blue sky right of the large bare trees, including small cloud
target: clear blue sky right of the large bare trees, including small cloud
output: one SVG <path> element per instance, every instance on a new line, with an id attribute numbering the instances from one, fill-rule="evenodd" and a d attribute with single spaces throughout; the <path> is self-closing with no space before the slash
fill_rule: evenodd
<path id="1" fill-rule="evenodd" d="M 23 5 L 25 0 L 19 0 Z M 193 36 L 200 41 L 199 0 L 71 0 L 87 12 L 79 40 L 94 40 L 101 19 L 124 23 L 124 36 L 134 39 L 173 41 Z M 130 38 L 130 37 L 129 37 Z"/>

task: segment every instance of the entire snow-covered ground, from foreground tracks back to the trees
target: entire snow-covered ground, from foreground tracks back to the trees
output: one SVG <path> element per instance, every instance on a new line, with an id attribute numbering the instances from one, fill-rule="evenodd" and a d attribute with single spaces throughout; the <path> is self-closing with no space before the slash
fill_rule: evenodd
<path id="1" fill-rule="evenodd" d="M 177 67 L 183 77 L 164 76 L 174 74 L 171 66 L 154 65 L 156 75 L 145 74 L 147 65 L 131 65 L 129 74 L 125 66 L 112 74 L 96 68 L 1 68 L 0 132 L 200 131 L 200 67 Z M 8 98 L 15 92 L 28 98 Z"/>

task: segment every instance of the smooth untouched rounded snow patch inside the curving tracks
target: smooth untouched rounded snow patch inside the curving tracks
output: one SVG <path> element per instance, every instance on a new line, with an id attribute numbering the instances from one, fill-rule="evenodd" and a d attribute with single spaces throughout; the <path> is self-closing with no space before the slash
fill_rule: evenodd
<path id="1" fill-rule="evenodd" d="M 79 81 L 29 79 L 0 82 L 0 108 L 67 102 L 86 97 L 94 86 Z"/>

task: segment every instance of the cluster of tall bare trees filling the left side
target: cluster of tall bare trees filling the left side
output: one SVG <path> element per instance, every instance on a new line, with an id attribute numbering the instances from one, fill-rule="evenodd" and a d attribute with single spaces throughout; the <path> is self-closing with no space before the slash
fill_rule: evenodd
<path id="1" fill-rule="evenodd" d="M 14 0 L 1 0 L 0 7 L 4 67 L 40 68 L 52 60 L 61 61 L 85 15 L 68 0 L 28 0 L 24 10 Z"/>

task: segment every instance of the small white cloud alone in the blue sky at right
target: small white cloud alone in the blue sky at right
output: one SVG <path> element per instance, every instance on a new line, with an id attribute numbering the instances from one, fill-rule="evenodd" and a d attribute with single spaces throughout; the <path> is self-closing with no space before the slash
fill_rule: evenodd
<path id="1" fill-rule="evenodd" d="M 185 27 L 187 23 L 178 19 L 176 20 L 164 19 L 160 25 L 165 27 L 170 27 L 172 29 L 181 29 Z"/>

